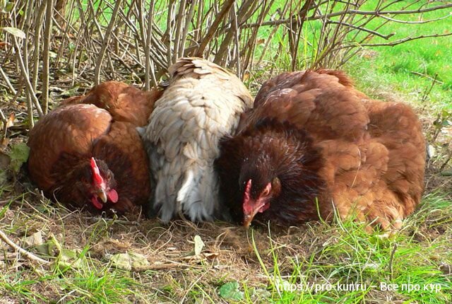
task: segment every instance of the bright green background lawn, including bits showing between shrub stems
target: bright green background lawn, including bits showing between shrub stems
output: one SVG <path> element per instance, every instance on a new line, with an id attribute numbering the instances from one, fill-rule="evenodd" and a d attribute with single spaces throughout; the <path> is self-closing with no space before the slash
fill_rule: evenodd
<path id="1" fill-rule="evenodd" d="M 283 1 L 275 1 L 274 12 L 283 5 Z M 369 0 L 360 9 L 373 10 L 379 1 Z M 427 1 L 425 1 L 427 3 Z M 393 4 L 390 10 L 400 10 L 412 4 L 413 1 L 398 1 Z M 424 7 L 437 6 L 437 2 L 432 2 Z M 338 6 L 336 10 L 339 10 Z M 413 7 L 408 6 L 408 9 Z M 452 16 L 450 11 L 431 11 L 422 15 L 422 21 L 434 20 L 449 16 L 440 21 L 422 24 L 386 23 L 378 32 L 383 35 L 393 34 L 389 40 L 381 37 L 373 37 L 367 43 L 388 43 L 403 39 L 405 37 L 418 37 L 422 35 L 435 35 L 451 33 Z M 400 21 L 420 21 L 419 15 L 407 14 L 397 16 Z M 382 18 L 375 18 L 367 28 L 376 30 L 384 22 Z M 272 28 L 263 27 L 259 37 L 265 41 L 270 35 Z M 304 24 L 302 30 L 302 42 L 299 45 L 298 69 L 306 69 L 314 60 L 318 47 L 321 23 L 310 21 Z M 355 35 L 352 32 L 349 36 Z M 364 37 L 364 34 L 357 35 Z M 273 58 L 280 43 L 287 45 L 287 37 L 283 36 L 283 28 L 279 28 L 270 42 L 270 51 L 267 51 L 265 59 L 275 68 L 275 73 L 287 69 L 290 66 L 291 57 L 287 52 L 282 52 L 280 56 Z M 393 92 L 400 94 L 405 100 L 426 105 L 423 100 L 427 95 L 429 109 L 433 107 L 434 112 L 441 109 L 452 109 L 452 35 L 447 37 L 428 37 L 419 40 L 412 40 L 393 47 L 362 47 L 362 52 L 347 62 L 342 68 L 355 79 L 358 88 L 367 91 L 370 95 L 379 96 L 381 92 Z M 260 43 L 256 47 L 256 57 L 260 57 L 264 44 Z M 259 75 L 258 71 L 258 75 Z M 436 82 L 432 87 L 433 79 Z M 429 92 L 429 94 L 427 94 Z M 423 105 L 420 103 L 424 102 Z"/>

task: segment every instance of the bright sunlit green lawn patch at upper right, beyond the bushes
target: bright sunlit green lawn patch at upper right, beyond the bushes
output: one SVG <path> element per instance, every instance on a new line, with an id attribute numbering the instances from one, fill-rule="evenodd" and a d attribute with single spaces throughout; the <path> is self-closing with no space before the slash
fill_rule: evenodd
<path id="1" fill-rule="evenodd" d="M 405 6 L 408 1 L 400 1 L 395 8 Z M 437 5 L 433 3 L 431 5 Z M 366 8 L 366 7 L 364 7 Z M 450 11 L 432 11 L 424 13 L 422 20 L 433 20 L 447 16 Z M 418 16 L 405 15 L 398 19 L 417 21 Z M 452 18 L 424 24 L 387 23 L 381 33 L 394 33 L 391 40 L 403 37 L 435 35 L 450 33 Z M 385 42 L 376 37 L 372 42 Z M 433 110 L 452 109 L 452 36 L 429 37 L 412 40 L 394 47 L 371 47 L 371 52 L 364 52 L 355 57 L 345 69 L 357 79 L 357 84 L 364 90 L 389 90 L 406 95 L 410 101 L 420 106 L 427 105 Z M 426 90 L 436 82 L 428 95 L 427 103 L 420 104 Z"/>

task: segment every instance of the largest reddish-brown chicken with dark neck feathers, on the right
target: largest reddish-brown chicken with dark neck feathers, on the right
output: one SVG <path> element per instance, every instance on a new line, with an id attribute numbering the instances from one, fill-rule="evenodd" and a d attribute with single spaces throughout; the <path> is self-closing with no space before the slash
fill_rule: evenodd
<path id="1" fill-rule="evenodd" d="M 263 84 L 215 168 L 234 221 L 340 218 L 400 228 L 420 203 L 424 137 L 403 103 L 370 100 L 340 71 L 285 73 Z"/>

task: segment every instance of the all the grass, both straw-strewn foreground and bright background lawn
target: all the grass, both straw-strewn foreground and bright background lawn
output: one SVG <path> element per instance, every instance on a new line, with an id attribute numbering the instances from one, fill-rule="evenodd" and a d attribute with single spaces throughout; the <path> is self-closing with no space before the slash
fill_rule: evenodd
<path id="1" fill-rule="evenodd" d="M 395 23 L 385 33 L 450 28 L 446 18 L 422 26 Z M 276 35 L 278 42 L 283 38 Z M 434 113 L 452 108 L 451 42 L 429 38 L 364 49 L 344 68 L 369 95 L 415 105 L 428 133 Z M 306 47 L 303 56 L 310 54 Z M 289 60 L 287 54 L 276 64 L 285 69 Z M 436 74 L 441 82 L 426 94 Z M 0 185 L 0 229 L 52 262 L 37 266 L 0 242 L 0 303 L 451 303 L 451 178 L 428 170 L 427 181 L 422 206 L 391 238 L 369 235 L 353 221 L 246 232 L 227 223 L 162 226 L 91 217 L 50 203 L 26 182 Z M 42 243 L 27 245 L 37 232 Z M 196 235 L 205 244 L 200 255 L 194 255 Z M 126 252 L 143 255 L 150 267 L 118 269 L 112 257 Z"/>

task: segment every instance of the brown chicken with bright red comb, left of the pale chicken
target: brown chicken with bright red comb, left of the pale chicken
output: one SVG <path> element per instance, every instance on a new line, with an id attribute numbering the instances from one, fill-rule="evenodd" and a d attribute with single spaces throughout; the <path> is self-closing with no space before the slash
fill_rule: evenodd
<path id="1" fill-rule="evenodd" d="M 136 127 L 160 94 L 109 81 L 64 100 L 30 132 L 32 180 L 49 199 L 90 211 L 145 204 L 149 166 Z"/>

